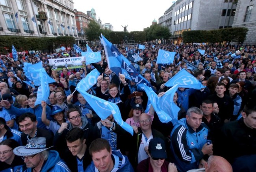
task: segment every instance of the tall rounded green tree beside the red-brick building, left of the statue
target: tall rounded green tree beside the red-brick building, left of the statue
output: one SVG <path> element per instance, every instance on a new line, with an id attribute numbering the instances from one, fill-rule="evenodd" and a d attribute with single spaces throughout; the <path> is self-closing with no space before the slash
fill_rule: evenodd
<path id="1" fill-rule="evenodd" d="M 85 28 L 85 35 L 87 40 L 89 41 L 98 40 L 100 32 L 100 25 L 96 23 L 94 20 L 91 20 L 88 24 L 88 27 Z"/>

